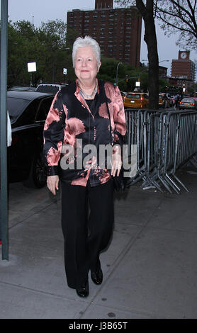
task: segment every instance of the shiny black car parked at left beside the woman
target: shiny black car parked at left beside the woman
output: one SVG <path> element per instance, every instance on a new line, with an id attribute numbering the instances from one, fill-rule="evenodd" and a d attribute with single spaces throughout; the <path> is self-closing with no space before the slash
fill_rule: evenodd
<path id="1" fill-rule="evenodd" d="M 43 127 L 55 94 L 8 91 L 12 144 L 8 147 L 9 182 L 25 181 L 30 187 L 46 182 L 43 164 Z"/>

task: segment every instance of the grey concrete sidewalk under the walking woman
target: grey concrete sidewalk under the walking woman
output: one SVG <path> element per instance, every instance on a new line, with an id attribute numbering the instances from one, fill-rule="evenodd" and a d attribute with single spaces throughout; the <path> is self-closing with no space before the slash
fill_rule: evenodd
<path id="1" fill-rule="evenodd" d="M 46 188 L 11 184 L 0 318 L 196 318 L 197 174 L 181 171 L 181 179 L 190 192 L 136 184 L 116 198 L 113 238 L 101 254 L 103 283 L 89 278 L 86 299 L 65 281 L 60 195 L 52 200 Z"/>

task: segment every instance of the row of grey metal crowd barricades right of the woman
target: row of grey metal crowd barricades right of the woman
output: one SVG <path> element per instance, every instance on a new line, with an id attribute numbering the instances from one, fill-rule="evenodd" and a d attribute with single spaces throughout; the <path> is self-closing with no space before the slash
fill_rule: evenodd
<path id="1" fill-rule="evenodd" d="M 137 173 L 130 185 L 180 193 L 176 171 L 197 154 L 197 111 L 126 109 L 128 146 L 137 145 Z"/>

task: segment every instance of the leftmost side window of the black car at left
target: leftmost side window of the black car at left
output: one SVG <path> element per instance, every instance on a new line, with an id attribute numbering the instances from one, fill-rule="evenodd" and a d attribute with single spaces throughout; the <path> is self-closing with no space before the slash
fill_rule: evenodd
<path id="1" fill-rule="evenodd" d="M 23 113 L 25 108 L 28 106 L 30 101 L 22 98 L 7 98 L 7 108 L 9 111 L 9 116 L 11 124 L 15 123 L 19 116 Z"/>

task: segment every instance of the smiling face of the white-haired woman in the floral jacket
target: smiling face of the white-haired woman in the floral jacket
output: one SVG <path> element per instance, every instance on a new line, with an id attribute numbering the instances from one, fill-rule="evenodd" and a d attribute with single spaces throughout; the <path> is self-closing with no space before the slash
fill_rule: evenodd
<path id="1" fill-rule="evenodd" d="M 101 63 L 97 64 L 96 54 L 92 47 L 79 47 L 75 60 L 74 71 L 76 76 L 81 81 L 92 81 L 96 78 L 96 74 L 99 72 Z"/>

